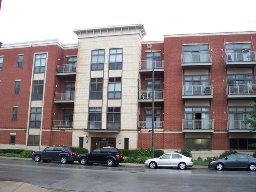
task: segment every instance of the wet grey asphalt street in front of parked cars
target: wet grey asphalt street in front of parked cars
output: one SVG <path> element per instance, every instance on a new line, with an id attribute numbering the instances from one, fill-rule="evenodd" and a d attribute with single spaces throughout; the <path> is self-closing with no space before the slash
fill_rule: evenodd
<path id="1" fill-rule="evenodd" d="M 82 192 L 254 192 L 256 172 L 144 166 L 81 166 L 0 158 L 0 180 Z"/>

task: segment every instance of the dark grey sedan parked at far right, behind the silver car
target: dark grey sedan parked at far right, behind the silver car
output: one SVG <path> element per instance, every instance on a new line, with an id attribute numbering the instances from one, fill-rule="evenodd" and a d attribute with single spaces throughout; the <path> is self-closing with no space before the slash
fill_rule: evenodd
<path id="1" fill-rule="evenodd" d="M 255 171 L 256 158 L 248 154 L 231 154 L 222 159 L 210 161 L 208 168 L 214 168 L 216 170 L 248 169 L 250 171 Z"/>

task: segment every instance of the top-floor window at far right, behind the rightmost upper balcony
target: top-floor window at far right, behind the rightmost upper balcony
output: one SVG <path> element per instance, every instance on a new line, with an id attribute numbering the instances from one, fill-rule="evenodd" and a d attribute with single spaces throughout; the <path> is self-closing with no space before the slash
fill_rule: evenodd
<path id="1" fill-rule="evenodd" d="M 232 61 L 247 61 L 246 56 L 251 53 L 251 44 L 226 44 L 226 55 L 229 62 Z M 244 50 L 248 52 L 244 52 Z"/>

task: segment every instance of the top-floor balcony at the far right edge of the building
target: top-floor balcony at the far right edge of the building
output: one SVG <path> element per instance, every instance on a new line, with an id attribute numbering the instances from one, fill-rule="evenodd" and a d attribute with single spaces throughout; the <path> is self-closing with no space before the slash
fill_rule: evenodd
<path id="1" fill-rule="evenodd" d="M 254 67 L 256 65 L 256 52 L 226 52 L 225 67 L 239 68 L 239 67 Z"/>

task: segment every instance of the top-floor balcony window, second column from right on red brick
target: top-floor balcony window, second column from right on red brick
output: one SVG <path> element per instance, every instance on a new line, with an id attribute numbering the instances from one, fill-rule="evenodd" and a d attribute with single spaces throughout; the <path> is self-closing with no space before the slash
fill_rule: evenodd
<path id="1" fill-rule="evenodd" d="M 208 45 L 183 46 L 183 61 L 185 63 L 210 62 Z"/>

